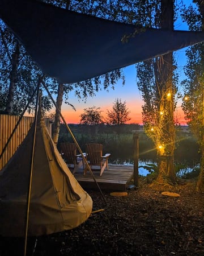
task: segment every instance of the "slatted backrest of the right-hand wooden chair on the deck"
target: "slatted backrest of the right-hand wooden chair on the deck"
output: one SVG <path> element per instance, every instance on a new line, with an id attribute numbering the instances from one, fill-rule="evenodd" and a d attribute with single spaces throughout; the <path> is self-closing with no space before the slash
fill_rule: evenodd
<path id="1" fill-rule="evenodd" d="M 86 144 L 86 154 L 91 166 L 101 166 L 103 145 L 95 143 Z"/>

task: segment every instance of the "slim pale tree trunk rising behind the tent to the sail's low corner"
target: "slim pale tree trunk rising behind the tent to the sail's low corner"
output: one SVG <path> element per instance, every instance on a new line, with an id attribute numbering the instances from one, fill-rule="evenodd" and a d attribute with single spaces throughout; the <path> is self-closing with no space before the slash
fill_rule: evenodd
<path id="1" fill-rule="evenodd" d="M 61 112 L 62 102 L 63 102 L 63 91 L 64 91 L 63 84 L 58 84 L 56 105 L 60 112 Z M 54 118 L 53 129 L 52 129 L 52 139 L 56 145 L 59 137 L 59 127 L 60 127 L 60 113 L 56 109 L 56 114 Z"/>

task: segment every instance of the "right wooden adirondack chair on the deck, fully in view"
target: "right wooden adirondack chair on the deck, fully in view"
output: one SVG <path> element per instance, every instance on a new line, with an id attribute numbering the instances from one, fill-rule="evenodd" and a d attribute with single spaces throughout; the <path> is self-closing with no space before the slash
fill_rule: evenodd
<path id="1" fill-rule="evenodd" d="M 90 164 L 91 170 L 100 170 L 100 176 L 103 174 L 105 168 L 108 170 L 108 158 L 111 154 L 103 155 L 103 145 L 89 143 L 86 144 L 86 158 L 88 164 Z M 87 168 L 84 168 L 84 174 L 86 174 Z"/>

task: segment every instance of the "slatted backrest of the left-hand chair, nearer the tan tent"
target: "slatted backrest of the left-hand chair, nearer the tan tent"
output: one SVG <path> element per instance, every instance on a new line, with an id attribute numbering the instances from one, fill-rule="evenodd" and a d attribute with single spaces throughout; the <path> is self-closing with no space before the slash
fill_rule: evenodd
<path id="1" fill-rule="evenodd" d="M 69 164 L 76 164 L 76 144 L 63 142 L 60 144 L 60 150 L 63 159 Z"/>

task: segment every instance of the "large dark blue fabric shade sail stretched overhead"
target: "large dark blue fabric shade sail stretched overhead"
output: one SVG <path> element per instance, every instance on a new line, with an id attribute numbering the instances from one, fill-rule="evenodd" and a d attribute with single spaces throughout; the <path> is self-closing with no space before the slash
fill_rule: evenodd
<path id="1" fill-rule="evenodd" d="M 0 18 L 46 75 L 74 83 L 202 42 L 195 31 L 146 29 L 47 5 L 0 0 Z M 140 31 L 140 30 L 139 30 Z"/>

